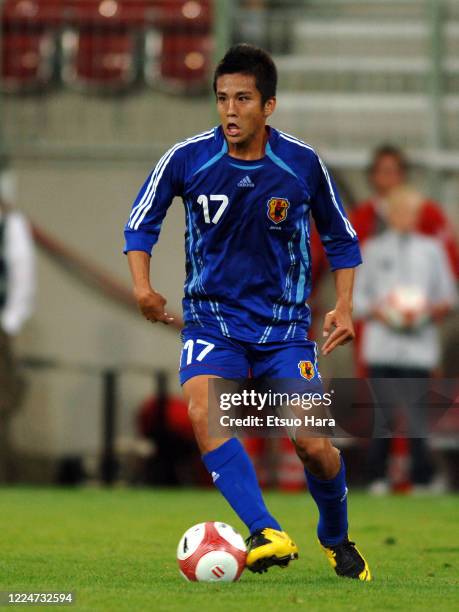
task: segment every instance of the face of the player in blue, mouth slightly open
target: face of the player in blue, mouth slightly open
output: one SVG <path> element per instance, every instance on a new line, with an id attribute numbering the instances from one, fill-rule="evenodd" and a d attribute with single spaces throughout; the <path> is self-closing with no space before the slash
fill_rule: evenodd
<path id="1" fill-rule="evenodd" d="M 248 149 L 263 138 L 275 106 L 275 98 L 262 104 L 252 75 L 224 74 L 217 79 L 217 110 L 230 150 Z"/>

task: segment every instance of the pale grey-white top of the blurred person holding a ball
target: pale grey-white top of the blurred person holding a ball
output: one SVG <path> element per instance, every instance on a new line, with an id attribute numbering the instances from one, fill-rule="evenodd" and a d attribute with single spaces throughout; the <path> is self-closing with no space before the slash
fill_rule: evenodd
<path id="1" fill-rule="evenodd" d="M 363 265 L 357 271 L 354 312 L 368 316 L 400 286 L 416 287 L 431 305 L 457 302 L 457 290 L 444 249 L 436 239 L 417 233 L 386 231 L 363 248 Z M 402 332 L 380 321 L 365 325 L 362 353 L 369 365 L 435 368 L 440 360 L 437 327 L 430 322 Z"/>

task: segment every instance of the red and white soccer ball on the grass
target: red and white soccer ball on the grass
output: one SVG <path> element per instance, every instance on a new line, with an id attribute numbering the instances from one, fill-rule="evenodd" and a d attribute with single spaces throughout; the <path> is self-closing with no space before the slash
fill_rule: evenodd
<path id="1" fill-rule="evenodd" d="M 226 523 L 199 523 L 186 531 L 177 548 L 180 573 L 193 582 L 234 582 L 244 571 L 247 549 Z"/>

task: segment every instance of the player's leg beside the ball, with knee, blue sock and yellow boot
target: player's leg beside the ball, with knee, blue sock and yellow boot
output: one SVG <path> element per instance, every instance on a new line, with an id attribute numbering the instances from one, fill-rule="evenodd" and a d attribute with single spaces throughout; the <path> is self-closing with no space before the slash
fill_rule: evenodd
<path id="1" fill-rule="evenodd" d="M 298 548 L 282 531 L 264 503 L 253 465 L 236 438 L 209 435 L 209 380 L 216 376 L 195 376 L 183 385 L 194 434 L 203 462 L 239 518 L 247 525 L 247 567 L 265 572 L 272 565 L 286 567 L 298 558 Z"/>

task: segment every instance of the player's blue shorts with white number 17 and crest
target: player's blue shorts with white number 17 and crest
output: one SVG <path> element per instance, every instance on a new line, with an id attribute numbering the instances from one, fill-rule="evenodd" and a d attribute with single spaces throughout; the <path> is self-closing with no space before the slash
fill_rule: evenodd
<path id="1" fill-rule="evenodd" d="M 299 378 L 320 380 L 317 345 L 311 340 L 285 340 L 252 344 L 226 338 L 217 331 L 192 328 L 182 331 L 180 384 L 193 376 L 221 378 Z"/>

